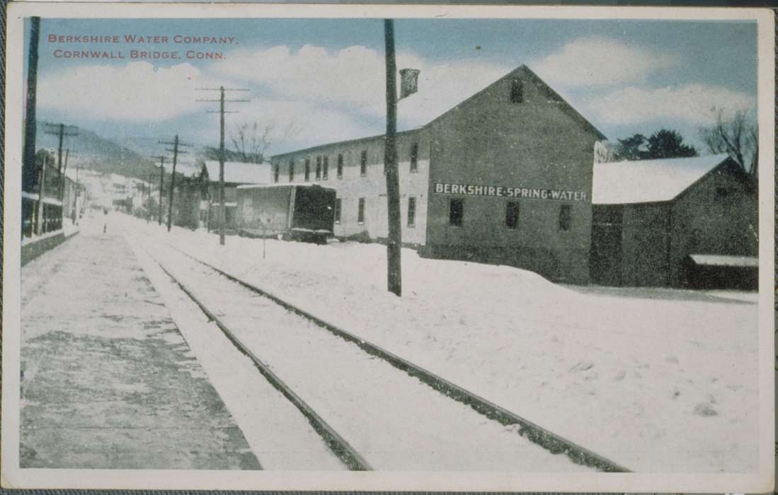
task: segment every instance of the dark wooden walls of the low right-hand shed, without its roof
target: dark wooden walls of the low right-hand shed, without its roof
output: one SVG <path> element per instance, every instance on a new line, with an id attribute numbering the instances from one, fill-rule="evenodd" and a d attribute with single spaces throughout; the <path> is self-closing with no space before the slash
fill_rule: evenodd
<path id="1" fill-rule="evenodd" d="M 691 254 L 756 256 L 757 221 L 753 186 L 731 160 L 670 201 L 595 204 L 592 281 L 681 286 Z"/>

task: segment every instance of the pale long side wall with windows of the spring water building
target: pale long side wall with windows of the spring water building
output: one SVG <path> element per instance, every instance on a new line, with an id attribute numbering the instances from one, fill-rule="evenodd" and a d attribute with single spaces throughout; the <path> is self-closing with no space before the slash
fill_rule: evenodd
<path id="1" fill-rule="evenodd" d="M 402 241 L 422 245 L 426 242 L 426 209 L 429 180 L 429 138 L 425 129 L 398 134 L 398 171 Z M 411 172 L 411 146 L 419 145 L 417 169 Z M 361 173 L 361 155 L 367 152 L 366 173 Z M 343 174 L 338 177 L 338 155 L 343 155 Z M 316 179 L 317 157 L 328 158 L 328 178 Z M 310 177 L 305 180 L 305 159 L 310 160 Z M 272 173 L 278 167 L 279 183 L 289 183 L 290 162 L 294 163 L 292 183 L 319 183 L 336 190 L 341 200 L 341 221 L 335 225 L 338 237 L 385 239 L 387 228 L 386 176 L 384 176 L 384 138 L 359 139 L 276 155 Z M 365 198 L 364 221 L 358 221 L 359 198 Z M 408 225 L 408 198 L 415 197 L 414 225 Z"/>

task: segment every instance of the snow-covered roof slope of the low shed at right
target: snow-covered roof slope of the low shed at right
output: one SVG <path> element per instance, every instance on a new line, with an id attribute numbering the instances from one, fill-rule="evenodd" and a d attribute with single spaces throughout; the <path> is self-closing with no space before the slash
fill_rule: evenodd
<path id="1" fill-rule="evenodd" d="M 595 163 L 593 204 L 669 201 L 715 169 L 727 155 Z"/>

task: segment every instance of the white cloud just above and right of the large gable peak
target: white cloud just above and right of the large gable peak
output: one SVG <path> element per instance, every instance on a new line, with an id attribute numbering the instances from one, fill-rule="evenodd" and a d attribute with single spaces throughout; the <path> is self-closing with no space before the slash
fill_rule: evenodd
<path id="1" fill-rule="evenodd" d="M 606 37 L 573 40 L 562 50 L 531 61 L 546 82 L 559 86 L 616 85 L 642 82 L 648 75 L 671 68 L 678 58 Z"/>

